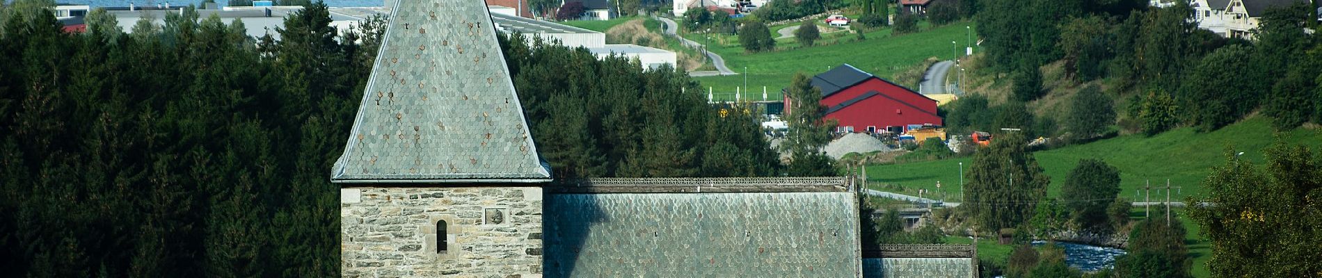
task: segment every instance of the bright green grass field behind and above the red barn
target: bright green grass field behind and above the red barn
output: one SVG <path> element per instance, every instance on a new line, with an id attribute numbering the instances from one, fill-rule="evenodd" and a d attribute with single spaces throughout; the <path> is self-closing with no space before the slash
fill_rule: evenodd
<path id="1" fill-rule="evenodd" d="M 968 43 L 968 30 L 965 26 L 974 26 L 972 21 L 960 21 L 945 26 L 929 29 L 925 22 L 920 24 L 923 32 L 891 36 L 890 28 L 883 28 L 865 33 L 863 41 L 855 41 L 853 33 L 839 32 L 822 34 L 817 46 L 798 47 L 793 38 L 777 40 L 775 51 L 747 54 L 739 40 L 734 36 L 714 36 L 709 43 L 713 53 L 726 59 L 730 70 L 743 72 L 748 69 L 748 87 L 754 88 L 754 96 L 761 97 L 761 87 L 767 91 L 780 91 L 789 84 L 795 72 L 816 75 L 842 63 L 869 71 L 876 76 L 891 78 L 895 71 L 919 63 L 929 57 L 951 59 L 956 54 L 951 41 L 956 41 L 962 53 Z M 773 26 L 781 28 L 781 26 Z M 686 34 L 689 40 L 707 43 L 703 34 Z M 732 94 L 735 87 L 743 86 L 744 76 L 703 76 L 695 78 L 703 87 L 713 87 L 717 92 Z"/>

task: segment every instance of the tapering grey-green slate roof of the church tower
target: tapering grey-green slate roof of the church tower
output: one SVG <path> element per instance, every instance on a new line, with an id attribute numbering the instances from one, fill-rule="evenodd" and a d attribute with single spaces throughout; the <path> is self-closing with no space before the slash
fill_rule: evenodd
<path id="1" fill-rule="evenodd" d="M 337 183 L 549 182 L 484 1 L 395 1 Z"/>

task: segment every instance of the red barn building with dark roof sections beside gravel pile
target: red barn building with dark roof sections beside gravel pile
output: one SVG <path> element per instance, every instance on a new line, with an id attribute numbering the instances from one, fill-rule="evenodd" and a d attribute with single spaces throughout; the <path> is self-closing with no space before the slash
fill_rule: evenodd
<path id="1" fill-rule="evenodd" d="M 903 130 L 908 125 L 941 125 L 936 100 L 880 79 L 850 65 L 813 76 L 822 91 L 826 119 L 838 121 L 839 132 Z M 793 100 L 785 96 L 785 113 Z M 894 128 L 892 128 L 894 126 Z"/>

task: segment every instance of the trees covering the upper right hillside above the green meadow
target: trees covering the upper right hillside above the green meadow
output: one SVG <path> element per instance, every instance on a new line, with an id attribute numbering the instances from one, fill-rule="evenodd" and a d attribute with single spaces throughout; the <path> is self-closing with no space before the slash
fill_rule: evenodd
<path id="1" fill-rule="evenodd" d="M 1011 92 L 995 107 L 982 97 L 949 105 L 957 129 L 1014 126 L 1088 140 L 1112 123 L 1121 132 L 1157 134 L 1175 126 L 1215 130 L 1255 112 L 1280 130 L 1322 121 L 1322 43 L 1306 30 L 1317 28 L 1307 1 L 1266 9 L 1251 40 L 1199 29 L 1183 1 L 1153 8 L 1140 0 L 977 0 L 972 7 L 988 65 L 1010 80 Z M 1114 111 L 1105 107 L 1104 119 L 1025 113 L 1026 103 L 1051 92 L 1042 71 L 1051 63 L 1063 65 L 1067 84 L 1100 86 L 1085 88 L 1092 92 L 1068 109 Z"/>

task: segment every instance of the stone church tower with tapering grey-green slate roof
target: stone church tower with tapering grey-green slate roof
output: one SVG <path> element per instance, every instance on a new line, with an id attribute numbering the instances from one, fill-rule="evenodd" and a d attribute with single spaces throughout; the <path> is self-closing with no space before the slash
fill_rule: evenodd
<path id="1" fill-rule="evenodd" d="M 393 9 L 332 170 L 344 277 L 541 277 L 551 175 L 485 3 Z"/>

